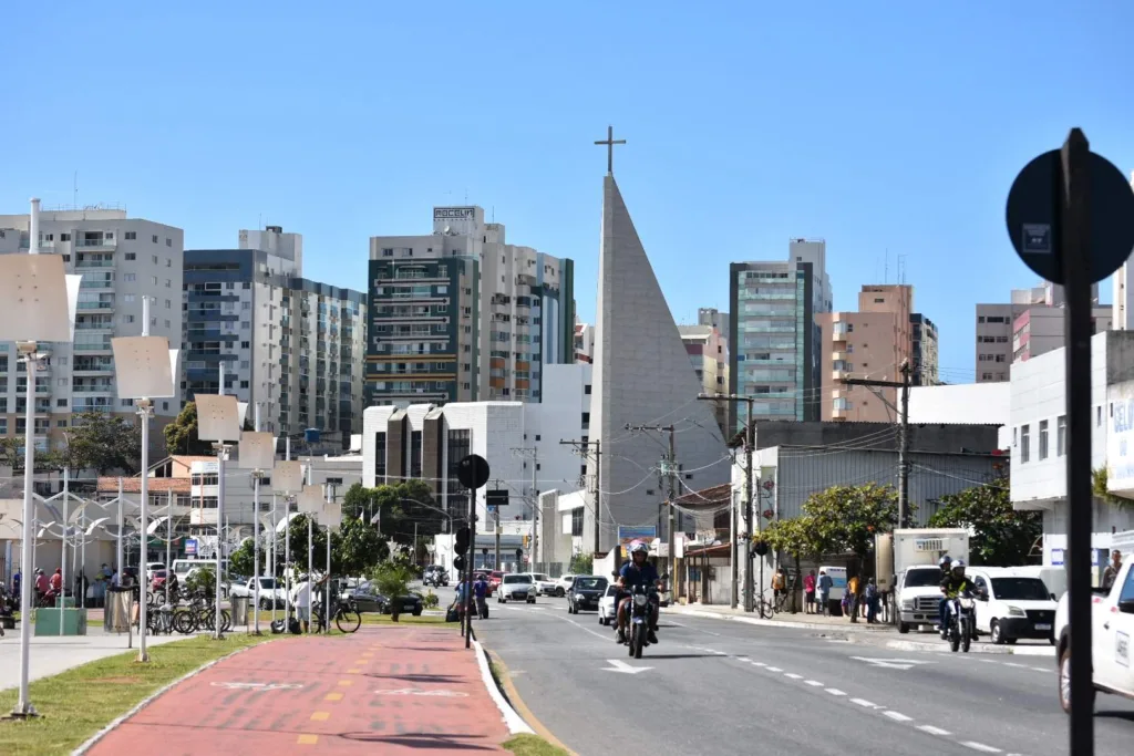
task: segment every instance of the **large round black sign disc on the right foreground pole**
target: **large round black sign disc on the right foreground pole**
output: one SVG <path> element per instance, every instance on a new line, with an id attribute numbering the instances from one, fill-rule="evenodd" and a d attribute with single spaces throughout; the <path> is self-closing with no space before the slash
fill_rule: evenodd
<path id="1" fill-rule="evenodd" d="M 1052 283 L 1064 283 L 1059 260 L 1063 180 L 1058 150 L 1044 152 L 1024 167 L 1008 193 L 1008 237 L 1024 264 Z M 1134 250 L 1134 192 L 1123 172 L 1090 153 L 1089 275 L 1098 283 Z"/>

